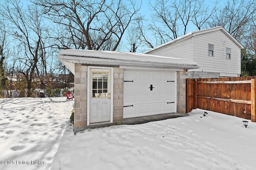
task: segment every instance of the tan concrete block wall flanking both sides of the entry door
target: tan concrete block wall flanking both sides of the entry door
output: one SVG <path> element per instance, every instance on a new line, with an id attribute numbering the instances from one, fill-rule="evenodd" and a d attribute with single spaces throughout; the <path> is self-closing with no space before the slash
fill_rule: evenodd
<path id="1" fill-rule="evenodd" d="M 123 121 L 124 69 L 114 67 L 113 122 Z M 87 66 L 75 64 L 74 128 L 87 126 Z M 79 130 L 75 130 L 79 131 Z"/>

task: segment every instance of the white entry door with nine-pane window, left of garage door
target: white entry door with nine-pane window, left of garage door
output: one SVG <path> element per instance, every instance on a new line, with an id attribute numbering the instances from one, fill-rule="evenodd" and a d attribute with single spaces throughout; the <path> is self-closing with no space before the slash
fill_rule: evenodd
<path id="1" fill-rule="evenodd" d="M 90 123 L 110 121 L 110 87 L 110 69 L 90 69 Z"/>

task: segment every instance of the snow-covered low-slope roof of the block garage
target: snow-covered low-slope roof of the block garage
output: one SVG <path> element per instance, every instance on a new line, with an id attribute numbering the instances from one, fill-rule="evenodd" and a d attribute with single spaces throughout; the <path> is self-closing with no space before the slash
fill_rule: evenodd
<path id="1" fill-rule="evenodd" d="M 57 57 L 73 74 L 75 63 L 112 66 L 151 66 L 183 69 L 193 69 L 199 67 L 196 62 L 187 59 L 177 59 L 121 51 L 66 49 L 61 51 Z"/>

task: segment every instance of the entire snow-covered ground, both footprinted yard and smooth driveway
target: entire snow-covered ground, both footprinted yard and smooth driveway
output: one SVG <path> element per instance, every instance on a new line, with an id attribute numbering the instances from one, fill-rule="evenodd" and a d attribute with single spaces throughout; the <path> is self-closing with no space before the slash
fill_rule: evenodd
<path id="1" fill-rule="evenodd" d="M 250 120 L 245 128 L 244 119 L 212 111 L 203 117 L 196 109 L 186 117 L 74 135 L 73 104 L 64 97 L 0 99 L 0 169 L 256 169 Z"/>

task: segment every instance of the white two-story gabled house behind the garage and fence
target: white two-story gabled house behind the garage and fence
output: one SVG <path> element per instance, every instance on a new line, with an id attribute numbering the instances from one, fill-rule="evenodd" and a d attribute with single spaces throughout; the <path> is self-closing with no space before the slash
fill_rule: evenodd
<path id="1" fill-rule="evenodd" d="M 193 31 L 145 54 L 189 59 L 200 67 L 188 70 L 186 78 L 237 77 L 241 74 L 241 49 L 226 29 L 213 27 Z"/>

